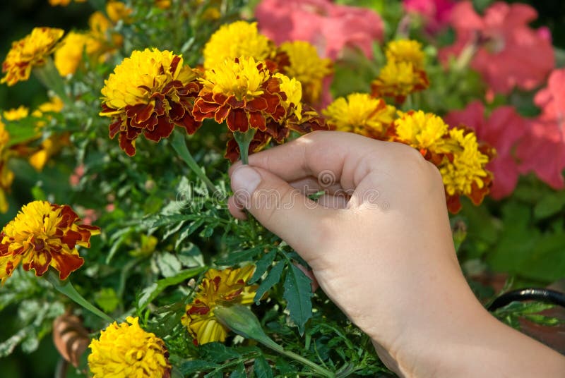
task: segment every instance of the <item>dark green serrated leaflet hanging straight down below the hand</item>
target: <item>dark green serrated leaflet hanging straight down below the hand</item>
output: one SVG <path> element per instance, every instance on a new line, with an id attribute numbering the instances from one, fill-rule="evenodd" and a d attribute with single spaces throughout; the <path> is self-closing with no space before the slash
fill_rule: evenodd
<path id="1" fill-rule="evenodd" d="M 285 277 L 285 292 L 287 310 L 290 319 L 298 327 L 299 334 L 304 334 L 304 324 L 312 317 L 312 287 L 311 280 L 296 265 L 290 264 Z"/>

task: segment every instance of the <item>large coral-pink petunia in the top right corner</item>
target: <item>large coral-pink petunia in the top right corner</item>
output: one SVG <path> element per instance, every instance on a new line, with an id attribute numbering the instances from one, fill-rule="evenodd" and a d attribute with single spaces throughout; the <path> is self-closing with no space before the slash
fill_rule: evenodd
<path id="1" fill-rule="evenodd" d="M 458 56 L 466 46 L 476 44 L 471 67 L 490 90 L 503 94 L 515 86 L 533 90 L 555 65 L 546 30 L 538 33 L 528 26 L 535 18 L 535 9 L 525 4 L 496 2 L 481 17 L 471 1 L 460 2 L 451 12 L 456 43 L 441 49 L 439 57 L 446 63 L 449 56 Z"/>

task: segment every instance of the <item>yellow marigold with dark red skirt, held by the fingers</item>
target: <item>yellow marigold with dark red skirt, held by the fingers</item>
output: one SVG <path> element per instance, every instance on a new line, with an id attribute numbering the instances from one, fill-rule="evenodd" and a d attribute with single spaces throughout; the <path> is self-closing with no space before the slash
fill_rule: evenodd
<path id="1" fill-rule="evenodd" d="M 197 121 L 214 118 L 226 121 L 232 132 L 245 133 L 249 128 L 264 131 L 267 118 L 280 121 L 286 115 L 280 78 L 252 56 L 226 60 L 198 80 L 203 88 L 192 111 Z"/>

